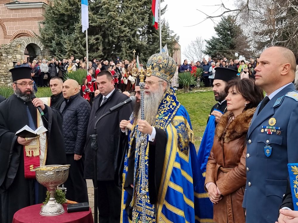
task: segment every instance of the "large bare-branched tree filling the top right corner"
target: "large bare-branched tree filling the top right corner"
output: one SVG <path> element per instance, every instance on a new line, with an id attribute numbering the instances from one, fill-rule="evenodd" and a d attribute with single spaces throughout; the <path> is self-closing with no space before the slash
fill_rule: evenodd
<path id="1" fill-rule="evenodd" d="M 222 13 L 207 18 L 233 15 L 252 50 L 280 45 L 291 49 L 298 58 L 298 1 L 297 0 L 235 0 L 235 9 L 224 3 L 218 5 Z"/>

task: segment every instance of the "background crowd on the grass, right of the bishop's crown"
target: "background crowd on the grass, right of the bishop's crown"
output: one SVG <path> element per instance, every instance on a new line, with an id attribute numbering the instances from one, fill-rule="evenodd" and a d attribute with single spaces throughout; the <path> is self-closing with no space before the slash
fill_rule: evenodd
<path id="1" fill-rule="evenodd" d="M 188 64 L 187 59 L 184 60 L 183 64 L 179 65 L 179 73 L 190 71 L 193 75 L 196 75 L 197 68 L 202 69 L 201 82 L 204 83 L 205 87 L 212 87 L 213 80 L 215 75 L 215 67 L 226 67 L 238 71 L 237 76 L 242 78 L 253 78 L 255 77 L 254 68 L 259 65 L 259 58 L 257 57 L 254 60 L 252 57 L 249 58 L 249 61 L 238 60 L 238 59 L 229 59 L 224 58 L 208 58 L 208 61 L 203 58 L 202 62 L 191 61 Z"/>

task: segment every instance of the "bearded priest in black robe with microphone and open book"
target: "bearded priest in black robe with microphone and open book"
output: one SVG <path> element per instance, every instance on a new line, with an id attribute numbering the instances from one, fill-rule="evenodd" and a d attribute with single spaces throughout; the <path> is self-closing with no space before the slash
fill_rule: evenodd
<path id="1" fill-rule="evenodd" d="M 46 188 L 34 178 L 25 178 L 25 145 L 31 140 L 16 136 L 15 133 L 28 125 L 35 130 L 38 127 L 40 106 L 44 112 L 42 123 L 46 131 L 46 150 L 43 162 L 46 165 L 66 163 L 61 114 L 47 106 L 34 95 L 31 68 L 11 69 L 14 94 L 0 104 L 0 194 L 2 201 L 1 222 L 11 223 L 16 211 L 30 205 L 42 203 L 46 197 Z M 39 119 L 40 120 L 40 119 Z M 25 153 L 25 156 L 26 153 Z M 41 157 L 41 156 L 40 156 Z M 35 166 L 34 166 L 35 168 Z"/>

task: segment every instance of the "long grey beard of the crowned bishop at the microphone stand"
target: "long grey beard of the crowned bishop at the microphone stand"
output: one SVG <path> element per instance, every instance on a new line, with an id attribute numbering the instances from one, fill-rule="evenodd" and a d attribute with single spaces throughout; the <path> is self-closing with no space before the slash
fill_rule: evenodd
<path id="1" fill-rule="evenodd" d="M 164 97 L 164 90 L 162 84 L 155 91 L 145 90 L 149 94 L 144 94 L 144 114 L 145 120 L 152 125 L 158 112 L 159 104 Z M 141 110 L 139 111 L 139 119 L 141 119 Z"/>

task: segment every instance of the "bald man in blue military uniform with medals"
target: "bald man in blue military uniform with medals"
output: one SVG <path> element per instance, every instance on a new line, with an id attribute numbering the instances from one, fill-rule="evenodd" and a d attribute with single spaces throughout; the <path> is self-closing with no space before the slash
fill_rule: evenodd
<path id="1" fill-rule="evenodd" d="M 257 106 L 247 134 L 246 187 L 243 208 L 247 223 L 277 221 L 286 192 L 288 163 L 298 158 L 298 92 L 294 53 L 267 48 L 255 68 L 257 86 L 266 97 Z"/>

